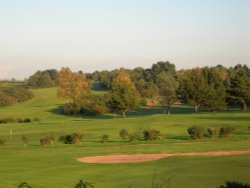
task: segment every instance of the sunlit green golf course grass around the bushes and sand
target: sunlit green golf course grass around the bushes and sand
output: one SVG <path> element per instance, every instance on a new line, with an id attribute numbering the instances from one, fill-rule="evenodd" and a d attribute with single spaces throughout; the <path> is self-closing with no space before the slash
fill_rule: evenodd
<path id="1" fill-rule="evenodd" d="M 0 188 L 14 188 L 27 181 L 34 188 L 70 188 L 84 179 L 96 188 L 151 187 L 156 171 L 157 181 L 172 177 L 172 188 L 211 188 L 225 181 L 250 183 L 250 155 L 220 157 L 173 157 L 137 164 L 85 164 L 77 157 L 108 155 L 112 153 L 173 153 L 216 151 L 250 148 L 249 112 L 220 112 L 193 114 L 189 106 L 175 106 L 173 114 L 161 114 L 162 109 L 139 109 L 128 113 L 129 118 L 64 116 L 56 98 L 56 89 L 33 90 L 35 97 L 22 104 L 0 109 L 0 119 L 6 117 L 35 118 L 30 124 L 0 124 L 0 137 L 6 144 L 0 147 Z M 99 91 L 96 91 L 97 93 Z M 101 91 L 100 91 L 101 92 Z M 232 126 L 235 134 L 230 138 L 204 138 L 192 141 L 187 128 Z M 118 132 L 160 130 L 159 141 L 124 142 Z M 10 135 L 10 130 L 13 134 Z M 83 132 L 84 140 L 78 145 L 40 146 L 39 140 L 50 134 L 60 135 Z M 108 134 L 110 141 L 100 142 Z M 29 144 L 24 147 L 21 136 Z"/>

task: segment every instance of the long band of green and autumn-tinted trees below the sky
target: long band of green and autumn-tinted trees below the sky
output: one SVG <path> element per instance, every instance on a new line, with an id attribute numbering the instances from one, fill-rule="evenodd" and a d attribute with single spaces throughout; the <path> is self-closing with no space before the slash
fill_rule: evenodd
<path id="1" fill-rule="evenodd" d="M 44 82 L 44 77 L 50 77 L 50 81 Z M 58 97 L 67 101 L 64 106 L 67 114 L 104 114 L 111 111 L 121 112 L 125 117 L 127 111 L 143 101 L 144 104 L 146 101 L 160 104 L 168 114 L 176 102 L 192 105 L 195 112 L 200 108 L 218 111 L 236 105 L 247 110 L 250 103 L 250 69 L 241 64 L 229 68 L 217 65 L 177 71 L 174 64 L 166 61 L 153 64 L 148 69 L 121 68 L 86 74 L 62 68 L 59 72 L 38 71 L 27 80 L 29 86 L 31 83 L 43 83 L 35 87 L 57 86 Z M 107 94 L 91 93 L 93 83 L 99 83 L 108 91 Z"/>

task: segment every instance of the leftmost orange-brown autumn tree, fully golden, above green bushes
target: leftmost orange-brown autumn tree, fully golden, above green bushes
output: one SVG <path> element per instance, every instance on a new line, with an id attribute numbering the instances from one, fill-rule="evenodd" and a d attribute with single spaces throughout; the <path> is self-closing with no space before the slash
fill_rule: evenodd
<path id="1" fill-rule="evenodd" d="M 76 101 L 90 93 L 90 86 L 84 74 L 74 73 L 69 68 L 59 72 L 57 96 L 61 99 Z"/>

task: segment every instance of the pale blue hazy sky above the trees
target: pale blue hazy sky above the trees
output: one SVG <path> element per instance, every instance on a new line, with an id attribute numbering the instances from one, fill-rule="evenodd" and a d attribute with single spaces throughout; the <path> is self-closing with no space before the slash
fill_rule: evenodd
<path id="1" fill-rule="evenodd" d="M 250 66 L 250 0 L 0 0 L 0 79 L 158 61 Z"/>

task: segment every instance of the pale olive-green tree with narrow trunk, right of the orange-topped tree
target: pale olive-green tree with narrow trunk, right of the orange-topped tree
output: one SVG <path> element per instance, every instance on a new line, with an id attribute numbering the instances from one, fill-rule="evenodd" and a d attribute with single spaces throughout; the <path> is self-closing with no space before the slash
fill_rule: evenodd
<path id="1" fill-rule="evenodd" d="M 170 114 L 170 107 L 177 100 L 176 90 L 179 83 L 170 73 L 166 72 L 157 75 L 156 83 L 159 87 L 160 102 L 163 105 L 164 112 Z"/>

